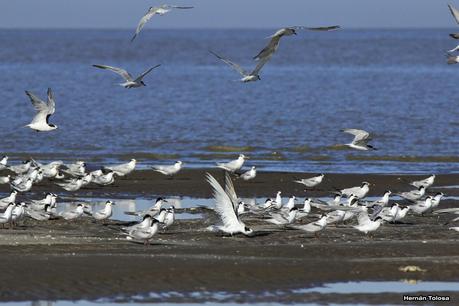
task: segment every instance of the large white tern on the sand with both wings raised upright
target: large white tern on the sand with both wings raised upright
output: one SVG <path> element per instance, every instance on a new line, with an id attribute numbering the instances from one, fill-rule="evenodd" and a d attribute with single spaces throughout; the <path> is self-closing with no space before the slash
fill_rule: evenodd
<path id="1" fill-rule="evenodd" d="M 225 172 L 225 185 L 232 184 L 229 174 Z M 234 198 L 237 198 L 234 194 L 228 194 L 227 191 L 234 190 L 232 186 L 225 186 L 225 189 L 217 182 L 217 180 L 207 173 L 207 181 L 212 186 L 213 195 L 215 199 L 215 212 L 221 219 L 222 224 L 217 225 L 216 228 L 226 234 L 234 235 L 242 233 L 249 236 L 253 233 L 253 230 L 248 228 L 239 218 L 237 214 L 238 203 L 234 202 Z M 225 191 L 227 190 L 227 191 Z"/>

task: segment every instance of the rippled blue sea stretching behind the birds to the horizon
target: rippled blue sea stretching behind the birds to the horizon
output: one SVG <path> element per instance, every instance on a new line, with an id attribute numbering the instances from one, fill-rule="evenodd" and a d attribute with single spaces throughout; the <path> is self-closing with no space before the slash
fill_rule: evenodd
<path id="1" fill-rule="evenodd" d="M 208 52 L 249 70 L 273 31 L 150 29 L 130 43 L 128 30 L 0 30 L 0 154 L 208 167 L 243 152 L 262 170 L 459 172 L 450 30 L 302 32 L 248 84 Z M 128 90 L 92 64 L 161 67 Z M 59 129 L 24 128 L 34 115 L 24 90 L 44 98 L 48 87 Z M 371 131 L 379 150 L 343 149 L 343 128 Z"/>

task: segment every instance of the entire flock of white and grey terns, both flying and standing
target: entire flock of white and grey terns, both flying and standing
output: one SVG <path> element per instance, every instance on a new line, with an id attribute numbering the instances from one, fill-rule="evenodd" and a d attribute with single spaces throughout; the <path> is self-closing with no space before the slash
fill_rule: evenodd
<path id="1" fill-rule="evenodd" d="M 452 5 L 448 6 L 456 22 L 459 24 L 459 11 Z M 131 42 L 138 39 L 142 29 L 153 16 L 163 16 L 172 10 L 189 9 L 193 9 L 193 7 L 166 4 L 158 7 L 150 7 L 140 19 L 135 34 L 131 38 Z M 255 67 L 252 70 L 242 68 L 239 64 L 215 51 L 209 50 L 209 52 L 218 60 L 238 72 L 241 76 L 241 82 L 254 82 L 261 80 L 260 73 L 262 68 L 277 52 L 283 37 L 297 35 L 299 31 L 329 32 L 339 30 L 340 28 L 338 25 L 333 25 L 325 27 L 293 26 L 279 29 L 268 37 L 269 42 L 267 45 L 253 57 Z M 459 34 L 451 34 L 451 37 L 459 39 Z M 452 55 L 453 52 L 457 51 L 459 51 L 459 46 L 448 51 L 448 64 L 459 63 L 459 56 Z M 149 67 L 140 75 L 133 77 L 123 68 L 103 64 L 93 65 L 95 68 L 108 70 L 121 76 L 123 82 L 119 85 L 127 89 L 146 86 L 144 78 L 160 66 L 158 64 Z M 38 132 L 50 132 L 57 129 L 57 125 L 49 122 L 50 117 L 56 111 L 56 102 L 52 89 L 48 88 L 46 101 L 30 91 L 26 91 L 26 95 L 36 110 L 36 115 L 26 127 Z M 369 144 L 371 136 L 367 131 L 350 128 L 344 129 L 342 132 L 354 136 L 350 143 L 344 144 L 345 146 L 362 151 L 376 150 L 374 146 Z M 358 231 L 371 234 L 383 223 L 400 222 L 409 213 L 424 215 L 433 211 L 437 214 L 459 214 L 459 209 L 436 210 L 443 194 L 427 193 L 428 188 L 434 184 L 435 175 L 421 181 L 410 182 L 416 188 L 412 191 L 395 194 L 406 202 L 405 205 L 397 202 L 391 203 L 390 197 L 394 194 L 390 191 L 386 191 L 379 200 L 366 200 L 365 198 L 371 186 L 368 182 L 362 182 L 360 186 L 356 187 L 334 190 L 336 194 L 330 201 L 306 198 L 300 207 L 298 207 L 294 196 L 290 197 L 283 204 L 280 191 L 277 193 L 275 199 L 267 199 L 264 203 L 244 203 L 236 194 L 233 185 L 233 176 L 244 181 L 252 180 L 257 176 L 255 166 L 251 166 L 248 171 L 241 171 L 247 159 L 247 156 L 240 154 L 236 160 L 216 164 L 217 168 L 224 171 L 225 180 L 223 185 L 211 174 L 206 175 L 206 180 L 213 190 L 215 200 L 214 210 L 220 217 L 220 223 L 210 226 L 209 230 L 220 231 L 229 235 L 244 234 L 250 236 L 256 231 L 249 228 L 245 222 L 252 219 L 259 219 L 282 228 L 291 227 L 314 233 L 316 236 L 327 227 L 344 222 L 351 223 L 353 228 Z M 2 226 L 5 224 L 14 226 L 20 219 L 26 217 L 37 221 L 54 218 L 74 220 L 83 215 L 90 215 L 96 221 L 107 220 L 112 216 L 113 206 L 115 205 L 110 200 L 106 201 L 104 208 L 98 211 L 92 211 L 87 205 L 78 203 L 74 209 L 58 212 L 56 205 L 58 195 L 54 193 L 47 193 L 44 199 L 30 200 L 28 202 L 18 202 L 16 201 L 16 197 L 19 193 L 29 192 L 34 184 L 38 184 L 43 180 L 50 180 L 68 192 L 78 191 L 89 184 L 98 186 L 110 185 L 115 182 L 116 177 L 123 177 L 134 171 L 136 163 L 137 161 L 132 159 L 124 164 L 105 166 L 101 169 L 89 169 L 83 161 L 77 161 L 73 164 L 65 164 L 62 161 L 43 164 L 30 159 L 18 165 L 9 165 L 8 157 L 3 156 L 0 160 L 0 170 L 9 171 L 10 174 L 0 177 L 0 184 L 9 184 L 11 193 L 7 197 L 0 199 L 0 223 Z M 177 161 L 173 165 L 157 165 L 152 168 L 163 175 L 172 177 L 182 167 L 183 163 Z M 295 180 L 293 183 L 301 184 L 308 190 L 316 188 L 316 186 L 323 182 L 324 178 L 325 175 L 321 174 L 311 178 Z M 163 205 L 165 203 L 167 203 L 166 199 L 158 198 L 148 210 L 127 212 L 142 219 L 138 224 L 121 228 L 122 232 L 127 235 L 127 239 L 149 243 L 150 239 L 160 228 L 166 229 L 170 227 L 175 220 L 175 208 L 173 206 L 164 208 Z M 304 224 L 303 221 L 306 218 L 313 218 L 314 221 Z M 459 220 L 459 217 L 452 221 L 457 220 Z M 452 227 L 451 229 L 458 230 L 459 228 Z"/>

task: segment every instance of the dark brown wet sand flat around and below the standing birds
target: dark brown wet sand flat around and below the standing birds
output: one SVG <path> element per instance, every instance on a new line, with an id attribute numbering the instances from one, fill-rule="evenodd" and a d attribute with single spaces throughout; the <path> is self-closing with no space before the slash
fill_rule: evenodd
<path id="1" fill-rule="evenodd" d="M 204 170 L 183 171 L 169 180 L 152 171 L 136 171 L 115 186 L 88 188 L 78 196 L 134 197 L 180 195 L 209 197 Z M 221 178 L 220 173 L 215 175 Z M 236 182 L 240 196 L 273 196 L 277 190 L 299 197 L 306 193 L 292 179 L 309 174 L 259 173 L 253 182 Z M 329 175 L 323 190 L 311 196 L 327 195 L 332 187 L 349 187 L 362 180 L 374 183 L 371 195 L 390 186 L 409 190 L 400 176 Z M 403 176 L 403 180 L 413 177 Z M 457 175 L 439 176 L 437 186 L 456 185 Z M 2 186 L 2 192 L 5 186 Z M 34 187 L 32 194 L 61 189 L 49 183 Z M 432 189 L 433 191 L 434 189 Z M 438 189 L 439 190 L 439 189 Z M 457 195 L 458 189 L 445 189 Z M 73 195 L 73 193 L 72 193 Z M 442 207 L 457 206 L 456 201 Z M 0 229 L 0 301 L 95 300 L 130 301 L 149 292 L 181 292 L 168 298 L 144 296 L 142 301 L 202 302 L 192 292 L 233 293 L 234 302 L 339 302 L 397 303 L 403 294 L 281 294 L 280 291 L 308 288 L 342 281 L 459 281 L 459 233 L 443 225 L 451 216 L 409 216 L 404 224 L 385 224 L 370 239 L 351 225 L 330 226 L 319 239 L 293 229 L 280 229 L 247 219 L 256 237 L 222 237 L 205 231 L 216 221 L 212 211 L 199 208 L 203 219 L 179 220 L 165 233 L 144 246 L 125 240 L 120 226 L 125 222 L 96 223 L 89 218 L 76 221 L 26 220 L 15 229 Z M 304 222 L 310 222 L 306 219 Z M 416 265 L 425 272 L 401 272 L 399 267 Z M 241 293 L 241 291 L 244 291 Z M 274 296 L 262 294 L 265 291 Z M 445 293 L 446 294 L 446 293 Z M 448 292 L 453 301 L 459 293 Z M 453 303 L 454 304 L 454 303 Z M 456 303 L 457 304 L 457 303 Z M 444 304 L 446 305 L 446 304 Z"/>

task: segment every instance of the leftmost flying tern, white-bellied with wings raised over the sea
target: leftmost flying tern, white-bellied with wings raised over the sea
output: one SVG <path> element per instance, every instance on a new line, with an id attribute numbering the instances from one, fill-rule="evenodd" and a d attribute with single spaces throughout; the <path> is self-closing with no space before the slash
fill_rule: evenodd
<path id="1" fill-rule="evenodd" d="M 56 111 L 56 102 L 54 101 L 54 94 L 51 88 L 48 88 L 48 101 L 45 102 L 35 96 L 30 91 L 26 91 L 32 105 L 37 110 L 37 114 L 32 119 L 32 122 L 26 125 L 37 132 L 47 132 L 57 129 L 57 125 L 49 123 L 49 117 Z"/>

